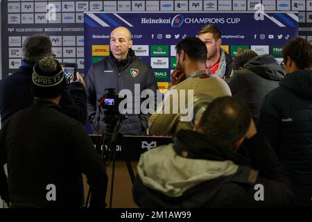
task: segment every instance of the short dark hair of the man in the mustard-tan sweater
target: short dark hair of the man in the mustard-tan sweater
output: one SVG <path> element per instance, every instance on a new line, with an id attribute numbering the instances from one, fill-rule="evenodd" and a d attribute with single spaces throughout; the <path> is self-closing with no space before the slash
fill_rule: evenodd
<path id="1" fill-rule="evenodd" d="M 207 60 L 207 47 L 198 37 L 186 37 L 175 46 L 175 49 L 178 55 L 183 50 L 190 60 L 198 62 L 206 62 Z"/>

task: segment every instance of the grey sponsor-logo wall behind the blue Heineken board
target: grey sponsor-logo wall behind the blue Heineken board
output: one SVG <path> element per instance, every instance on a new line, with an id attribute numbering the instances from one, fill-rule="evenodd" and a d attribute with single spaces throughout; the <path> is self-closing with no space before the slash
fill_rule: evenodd
<path id="1" fill-rule="evenodd" d="M 84 72 L 83 12 L 254 11 L 257 3 L 266 10 L 299 11 L 299 35 L 312 42 L 312 0 L 211 0 L 211 1 L 82 1 L 7 0 L 1 7 L 2 77 L 21 65 L 21 46 L 26 36 L 46 33 L 53 51 L 63 62 L 76 62 Z M 53 17 L 53 13 L 55 17 Z M 248 29 L 244 27 L 244 29 Z"/>

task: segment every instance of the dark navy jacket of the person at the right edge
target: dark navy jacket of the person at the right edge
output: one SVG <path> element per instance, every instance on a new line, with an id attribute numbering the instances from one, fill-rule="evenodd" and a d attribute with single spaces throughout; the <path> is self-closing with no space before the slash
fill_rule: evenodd
<path id="1" fill-rule="evenodd" d="M 258 128 L 285 164 L 297 204 L 312 205 L 312 70 L 286 75 L 266 95 Z"/>

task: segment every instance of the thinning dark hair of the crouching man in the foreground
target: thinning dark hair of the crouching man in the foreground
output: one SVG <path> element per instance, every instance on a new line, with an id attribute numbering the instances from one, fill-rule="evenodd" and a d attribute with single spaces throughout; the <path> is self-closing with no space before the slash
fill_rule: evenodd
<path id="1" fill-rule="evenodd" d="M 247 133 L 251 118 L 248 105 L 241 99 L 223 96 L 208 105 L 199 127 L 216 146 L 232 148 Z"/>

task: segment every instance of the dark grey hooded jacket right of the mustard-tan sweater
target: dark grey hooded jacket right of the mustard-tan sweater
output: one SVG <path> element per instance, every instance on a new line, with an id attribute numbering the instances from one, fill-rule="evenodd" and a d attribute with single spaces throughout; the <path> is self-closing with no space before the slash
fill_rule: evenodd
<path id="1" fill-rule="evenodd" d="M 248 104 L 254 119 L 259 119 L 264 96 L 279 86 L 284 78 L 284 70 L 272 56 L 256 56 L 244 65 L 244 69 L 234 71 L 227 84 L 232 95 Z"/>

